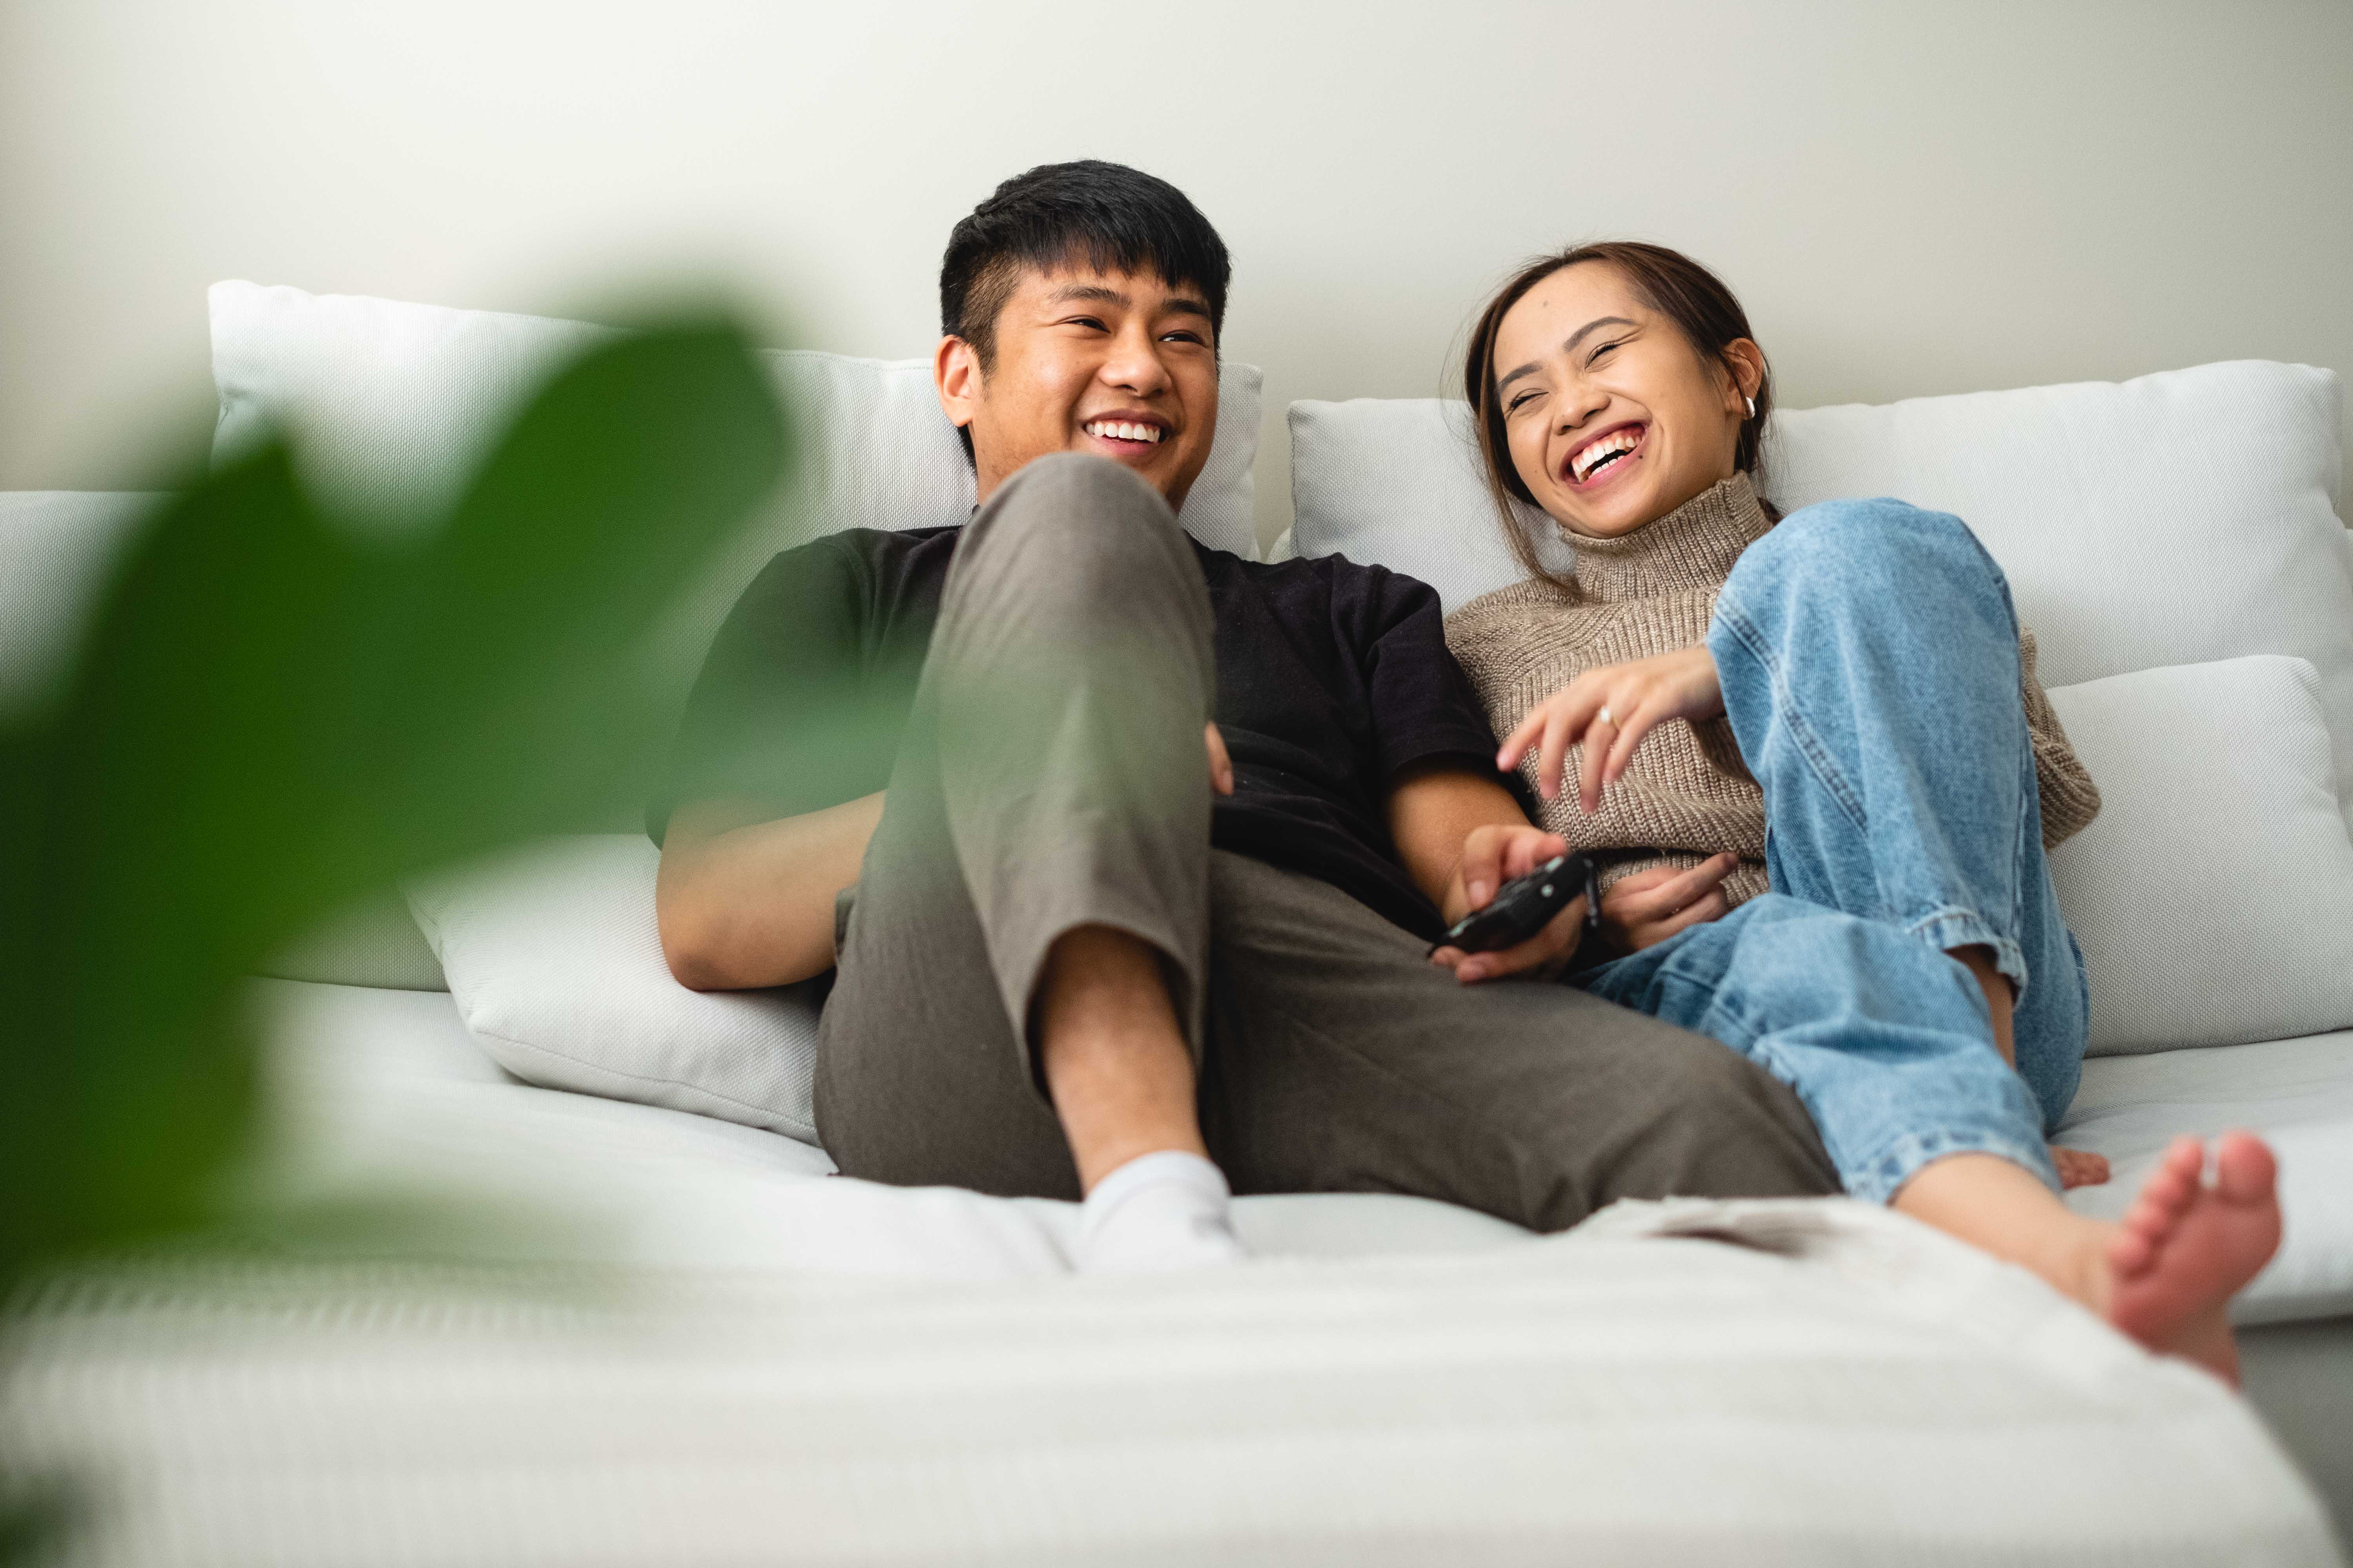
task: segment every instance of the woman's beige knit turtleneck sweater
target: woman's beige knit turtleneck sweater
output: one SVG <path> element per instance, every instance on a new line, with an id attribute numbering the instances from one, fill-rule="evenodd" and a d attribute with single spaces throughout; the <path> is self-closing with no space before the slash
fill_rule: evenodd
<path id="1" fill-rule="evenodd" d="M 1586 670 L 1704 644 L 1732 562 L 1767 529 L 1772 520 L 1748 475 L 1732 475 L 1633 534 L 1577 538 L 1574 588 L 1532 578 L 1447 616 L 1447 646 L 1478 686 L 1497 738 Z M 2052 846 L 2099 813 L 2099 788 L 2035 682 L 2033 632 L 2019 635 L 2019 663 L 2042 844 Z M 1765 792 L 1741 764 L 1727 719 L 1649 731 L 1593 816 L 1577 809 L 1581 750 L 1569 748 L 1567 788 L 1558 799 L 1539 797 L 1539 806 L 1546 827 L 1602 863 L 1605 884 L 1652 865 L 1699 865 L 1729 849 L 1741 865 L 1725 879 L 1727 898 L 1737 905 L 1765 891 Z M 1534 750 L 1520 771 L 1534 790 Z"/>

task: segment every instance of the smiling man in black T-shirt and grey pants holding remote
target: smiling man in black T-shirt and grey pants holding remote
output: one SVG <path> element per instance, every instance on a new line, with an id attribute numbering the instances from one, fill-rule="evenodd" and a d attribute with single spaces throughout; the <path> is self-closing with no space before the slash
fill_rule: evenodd
<path id="1" fill-rule="evenodd" d="M 1581 900 L 1431 961 L 1562 844 L 1497 773 L 1426 585 L 1176 527 L 1228 273 L 1174 186 L 1118 165 L 1031 169 L 955 226 L 934 376 L 981 505 L 788 550 L 729 614 L 649 823 L 673 973 L 833 969 L 835 1164 L 1085 1197 L 1087 1269 L 1240 1255 L 1228 1180 L 1537 1229 L 1835 1192 L 1734 1051 L 1527 983 Z"/>

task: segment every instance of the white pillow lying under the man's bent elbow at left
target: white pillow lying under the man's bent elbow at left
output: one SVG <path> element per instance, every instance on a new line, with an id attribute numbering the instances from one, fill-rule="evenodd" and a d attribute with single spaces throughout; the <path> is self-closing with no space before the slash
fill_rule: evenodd
<path id="1" fill-rule="evenodd" d="M 409 884 L 449 994 L 518 1079 L 816 1143 L 824 983 L 692 992 L 654 929 L 642 835 L 551 839 Z"/>

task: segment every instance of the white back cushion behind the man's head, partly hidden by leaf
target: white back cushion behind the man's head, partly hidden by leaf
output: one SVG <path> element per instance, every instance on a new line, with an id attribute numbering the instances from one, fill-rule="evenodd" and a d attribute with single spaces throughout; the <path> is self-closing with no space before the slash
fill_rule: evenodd
<path id="1" fill-rule="evenodd" d="M 306 477 L 369 520 L 412 496 L 449 496 L 513 407 L 609 327 L 496 310 L 452 310 L 252 282 L 212 284 L 212 376 L 221 393 L 214 454 L 282 428 Z M 972 510 L 972 465 L 932 395 L 929 360 L 856 360 L 809 350 L 762 355 L 800 416 L 807 468 L 779 505 L 741 590 L 769 555 L 835 529 L 925 529 Z M 1257 557 L 1252 463 L 1259 369 L 1219 371 L 1217 442 L 1186 496 L 1186 529 Z"/>

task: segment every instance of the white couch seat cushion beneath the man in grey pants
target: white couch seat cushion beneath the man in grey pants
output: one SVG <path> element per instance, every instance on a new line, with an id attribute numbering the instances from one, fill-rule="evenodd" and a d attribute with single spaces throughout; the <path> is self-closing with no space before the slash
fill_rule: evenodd
<path id="1" fill-rule="evenodd" d="M 282 1105 L 278 1180 L 315 1197 L 393 1187 L 487 1222 L 459 1251 L 536 1262 L 998 1279 L 1059 1274 L 1078 1204 L 816 1180 L 807 1143 L 504 1072 L 445 992 L 256 980 Z M 1261 1258 L 1464 1253 L 1529 1232 L 1381 1192 L 1249 1197 Z"/>

